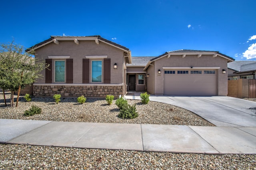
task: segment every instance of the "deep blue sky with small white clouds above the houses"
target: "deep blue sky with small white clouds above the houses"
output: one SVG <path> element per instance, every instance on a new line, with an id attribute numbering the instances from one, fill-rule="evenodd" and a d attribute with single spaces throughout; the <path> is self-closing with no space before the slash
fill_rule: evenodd
<path id="1" fill-rule="evenodd" d="M 256 60 L 256 0 L 6 0 L 0 16 L 0 42 L 26 48 L 51 35 L 100 35 L 132 56 L 188 49 Z"/>

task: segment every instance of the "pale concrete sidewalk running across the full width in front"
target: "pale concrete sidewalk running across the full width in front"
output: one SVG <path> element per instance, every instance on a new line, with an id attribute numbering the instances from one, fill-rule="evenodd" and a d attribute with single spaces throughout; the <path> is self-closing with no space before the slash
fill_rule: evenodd
<path id="1" fill-rule="evenodd" d="M 0 142 L 114 150 L 256 154 L 256 127 L 0 119 Z"/>

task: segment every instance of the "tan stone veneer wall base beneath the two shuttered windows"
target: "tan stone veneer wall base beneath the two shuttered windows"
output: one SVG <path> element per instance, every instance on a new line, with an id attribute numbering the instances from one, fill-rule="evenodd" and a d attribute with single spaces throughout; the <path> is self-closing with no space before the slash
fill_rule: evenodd
<path id="1" fill-rule="evenodd" d="M 106 95 L 124 95 L 123 85 L 33 85 L 34 96 L 53 96 L 61 94 L 61 96 L 86 96 L 104 98 Z"/>

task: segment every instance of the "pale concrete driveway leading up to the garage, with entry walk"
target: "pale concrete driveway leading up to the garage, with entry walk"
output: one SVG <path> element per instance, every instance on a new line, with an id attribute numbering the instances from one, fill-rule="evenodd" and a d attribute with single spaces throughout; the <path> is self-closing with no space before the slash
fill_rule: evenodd
<path id="1" fill-rule="evenodd" d="M 125 96 L 140 100 L 140 96 Z M 228 96 L 150 96 L 151 101 L 190 110 L 215 126 L 256 127 L 256 102 Z"/>

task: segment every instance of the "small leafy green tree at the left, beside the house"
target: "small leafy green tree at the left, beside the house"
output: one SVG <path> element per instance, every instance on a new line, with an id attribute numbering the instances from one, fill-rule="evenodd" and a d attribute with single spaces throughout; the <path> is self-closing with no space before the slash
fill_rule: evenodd
<path id="1" fill-rule="evenodd" d="M 18 91 L 17 107 L 20 90 L 42 78 L 40 72 L 48 67 L 44 61 L 34 58 L 32 53 L 33 50 L 29 54 L 23 46 L 14 42 L 0 44 L 0 87 L 11 91 L 11 106 L 14 105 L 14 91 Z"/>

